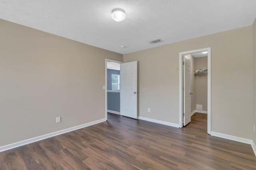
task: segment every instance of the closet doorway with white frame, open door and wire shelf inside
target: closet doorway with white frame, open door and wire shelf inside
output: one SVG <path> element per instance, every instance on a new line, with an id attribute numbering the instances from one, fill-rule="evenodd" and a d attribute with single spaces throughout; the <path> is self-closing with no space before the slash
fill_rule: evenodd
<path id="1" fill-rule="evenodd" d="M 196 112 L 207 113 L 211 132 L 211 48 L 180 53 L 180 128 Z"/>

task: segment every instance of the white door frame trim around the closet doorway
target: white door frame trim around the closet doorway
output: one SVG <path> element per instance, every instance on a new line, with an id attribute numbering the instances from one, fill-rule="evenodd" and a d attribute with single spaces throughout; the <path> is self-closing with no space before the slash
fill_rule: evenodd
<path id="1" fill-rule="evenodd" d="M 183 64 L 182 64 L 182 55 L 188 55 L 192 53 L 200 53 L 202 51 L 208 51 L 207 65 L 208 65 L 208 74 L 207 74 L 207 133 L 211 134 L 211 47 L 204 49 L 196 49 L 192 51 L 184 51 L 179 53 L 179 126 L 183 127 Z"/>

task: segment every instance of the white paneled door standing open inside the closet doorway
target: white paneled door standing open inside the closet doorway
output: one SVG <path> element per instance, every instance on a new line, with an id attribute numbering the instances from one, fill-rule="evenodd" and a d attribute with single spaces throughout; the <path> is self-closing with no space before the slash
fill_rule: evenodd
<path id="1" fill-rule="evenodd" d="M 191 121 L 191 59 L 184 56 L 184 123 L 186 126 Z"/>

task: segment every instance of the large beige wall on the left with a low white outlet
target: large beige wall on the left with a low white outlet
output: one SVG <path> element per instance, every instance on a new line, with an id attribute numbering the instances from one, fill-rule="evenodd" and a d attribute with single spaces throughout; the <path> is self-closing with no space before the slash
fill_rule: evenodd
<path id="1" fill-rule="evenodd" d="M 105 118 L 105 59 L 122 55 L 4 20 L 0 30 L 0 146 Z"/>

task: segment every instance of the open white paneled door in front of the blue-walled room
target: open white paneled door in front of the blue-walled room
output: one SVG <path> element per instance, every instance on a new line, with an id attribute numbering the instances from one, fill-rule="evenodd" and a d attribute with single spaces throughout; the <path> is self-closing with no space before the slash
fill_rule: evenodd
<path id="1" fill-rule="evenodd" d="M 137 119 L 137 61 L 120 64 L 120 115 Z"/>

